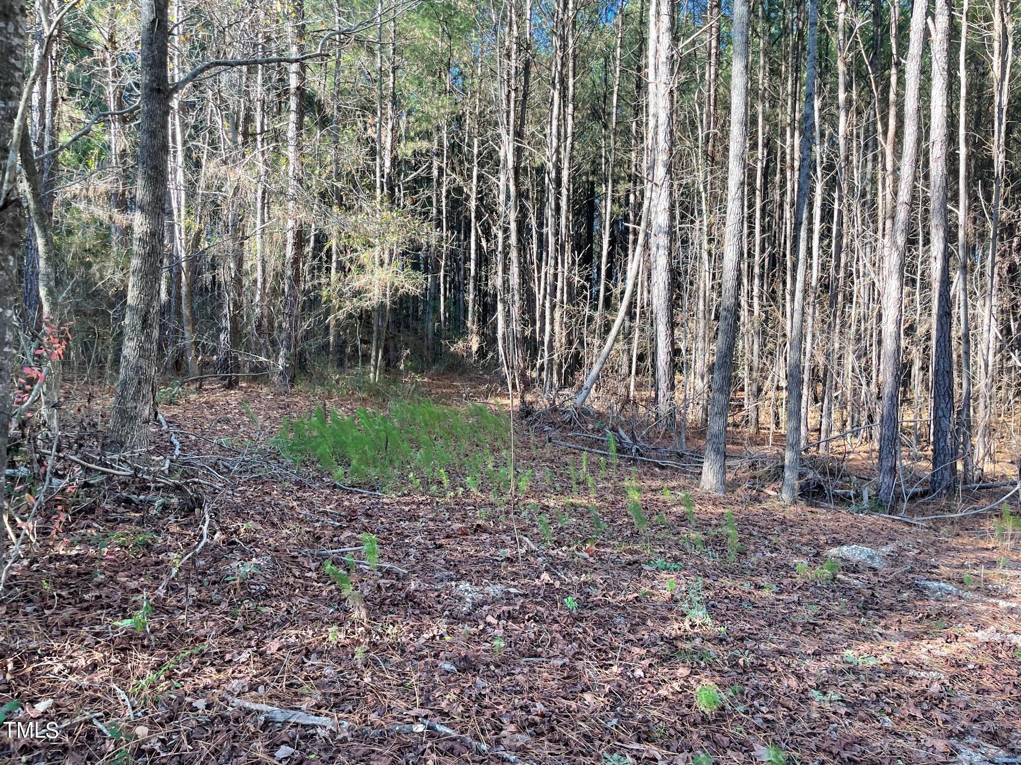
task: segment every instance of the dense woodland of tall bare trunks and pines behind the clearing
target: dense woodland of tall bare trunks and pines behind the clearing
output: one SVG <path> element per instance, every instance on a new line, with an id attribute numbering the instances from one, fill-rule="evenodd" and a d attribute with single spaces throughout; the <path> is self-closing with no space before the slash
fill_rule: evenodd
<path id="1" fill-rule="evenodd" d="M 717 491 L 728 426 L 788 501 L 838 435 L 887 505 L 1017 453 L 1010 0 L 5 13 L 6 363 L 116 379 L 111 446 L 157 378 L 475 364 L 708 428 Z"/>

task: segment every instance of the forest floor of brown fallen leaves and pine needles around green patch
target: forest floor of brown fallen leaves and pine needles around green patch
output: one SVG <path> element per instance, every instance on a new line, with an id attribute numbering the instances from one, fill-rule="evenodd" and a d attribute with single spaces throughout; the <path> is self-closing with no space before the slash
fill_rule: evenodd
<path id="1" fill-rule="evenodd" d="M 583 468 L 555 442 L 604 449 L 597 418 L 541 412 L 517 425 L 514 512 L 458 476 L 362 494 L 273 439 L 385 396 L 164 398 L 171 467 L 147 475 L 99 464 L 101 399 L 67 407 L 54 469 L 86 482 L 39 513 L 0 595 L 0 705 L 41 727 L 0 725 L 0 760 L 1021 762 L 1021 545 L 993 516 L 921 526 L 784 507 L 763 477 L 721 498 L 691 469 Z M 843 545 L 879 568 L 827 564 Z"/>

